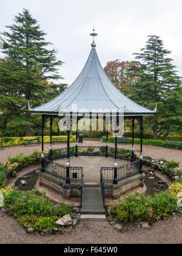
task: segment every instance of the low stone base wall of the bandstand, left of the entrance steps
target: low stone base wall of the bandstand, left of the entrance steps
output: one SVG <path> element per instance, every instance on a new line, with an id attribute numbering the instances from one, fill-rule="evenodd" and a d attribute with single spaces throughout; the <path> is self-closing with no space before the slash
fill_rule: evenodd
<path id="1" fill-rule="evenodd" d="M 56 193 L 61 194 L 65 199 L 70 199 L 70 197 L 81 197 L 81 191 L 78 190 L 78 185 L 63 183 L 56 177 L 45 172 L 39 174 L 39 185 L 52 189 Z"/>

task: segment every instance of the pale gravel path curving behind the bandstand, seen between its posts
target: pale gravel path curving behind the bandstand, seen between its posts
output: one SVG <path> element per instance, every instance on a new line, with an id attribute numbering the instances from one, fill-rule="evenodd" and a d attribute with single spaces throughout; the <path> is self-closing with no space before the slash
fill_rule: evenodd
<path id="1" fill-rule="evenodd" d="M 44 144 L 45 149 L 49 149 L 49 144 Z M 70 143 L 71 146 L 75 146 L 75 143 Z M 105 143 L 100 141 L 84 141 L 84 143 L 79 144 L 80 146 L 105 146 Z M 113 143 L 109 143 L 109 146 L 113 146 Z M 53 148 L 63 148 L 66 147 L 66 144 L 54 144 Z M 118 144 L 118 147 L 124 147 L 131 149 L 130 144 Z M 41 149 L 41 146 L 16 146 L 16 147 L 7 147 L 5 150 L 0 151 L 0 162 L 5 162 L 8 157 L 14 157 L 16 154 L 23 153 L 28 155 L 35 150 Z M 140 145 L 135 145 L 136 150 L 140 150 Z M 152 158 L 165 158 L 166 160 L 174 159 L 177 162 L 180 162 L 180 167 L 182 168 L 182 151 L 178 149 L 169 149 L 156 146 L 143 146 L 143 154 L 149 155 Z"/>

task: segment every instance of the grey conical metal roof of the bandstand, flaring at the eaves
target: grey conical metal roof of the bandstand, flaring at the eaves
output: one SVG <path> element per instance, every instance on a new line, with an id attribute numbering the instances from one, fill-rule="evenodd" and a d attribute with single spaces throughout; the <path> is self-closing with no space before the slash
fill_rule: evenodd
<path id="1" fill-rule="evenodd" d="M 58 113 L 66 109 L 69 112 L 120 111 L 125 115 L 153 115 L 152 110 L 136 104 L 112 84 L 99 62 L 95 46 L 92 46 L 89 59 L 75 82 L 52 101 L 34 108 L 33 113 Z"/>

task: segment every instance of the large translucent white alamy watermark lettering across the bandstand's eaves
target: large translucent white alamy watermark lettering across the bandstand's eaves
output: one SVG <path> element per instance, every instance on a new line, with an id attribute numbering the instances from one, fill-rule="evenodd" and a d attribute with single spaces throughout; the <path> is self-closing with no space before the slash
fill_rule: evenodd
<path id="1" fill-rule="evenodd" d="M 77 110 L 77 105 L 72 105 L 72 111 L 59 109 L 59 130 L 79 131 L 113 131 L 116 137 L 123 136 L 124 133 L 124 111 L 109 109 L 87 109 Z M 78 122 L 79 121 L 79 122 Z"/>

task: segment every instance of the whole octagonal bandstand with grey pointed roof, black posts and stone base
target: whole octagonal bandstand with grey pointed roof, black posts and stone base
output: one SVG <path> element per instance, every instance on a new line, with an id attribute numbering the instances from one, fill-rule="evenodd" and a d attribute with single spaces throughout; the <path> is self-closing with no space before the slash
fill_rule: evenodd
<path id="1" fill-rule="evenodd" d="M 116 199 L 122 193 L 143 184 L 143 116 L 153 115 L 155 111 L 136 104 L 112 84 L 96 54 L 94 37 L 97 34 L 95 34 L 95 30 L 91 35 L 93 36 L 93 42 L 89 58 L 75 82 L 52 101 L 34 108 L 32 113 L 42 116 L 41 183 L 55 189 L 64 198 L 83 196 L 84 168 L 83 166 L 70 165 L 71 157 L 112 157 L 114 159 L 113 164 L 110 166 L 103 165 L 98 170 L 104 205 L 106 197 Z M 131 150 L 118 148 L 120 113 L 122 113 L 124 120 L 132 120 Z M 66 130 L 67 147 L 53 149 L 53 119 L 66 118 L 67 115 L 69 115 L 69 125 L 67 125 Z M 99 119 L 101 115 L 106 124 L 106 145 L 81 146 L 78 144 L 79 120 L 86 116 L 90 119 L 93 116 Z M 47 155 L 44 155 L 44 125 L 47 119 L 50 119 L 50 151 Z M 114 130 L 115 146 L 109 147 L 109 125 L 113 120 L 115 120 L 117 127 Z M 135 121 L 140 123 L 141 129 L 140 157 L 134 151 Z M 70 146 L 70 132 L 73 124 L 76 127 L 76 143 L 75 146 Z M 66 158 L 66 163 L 60 163 L 59 160 L 64 158 Z M 118 165 L 119 160 L 123 160 L 125 163 L 120 166 Z"/>

